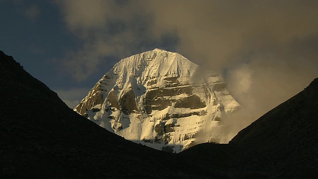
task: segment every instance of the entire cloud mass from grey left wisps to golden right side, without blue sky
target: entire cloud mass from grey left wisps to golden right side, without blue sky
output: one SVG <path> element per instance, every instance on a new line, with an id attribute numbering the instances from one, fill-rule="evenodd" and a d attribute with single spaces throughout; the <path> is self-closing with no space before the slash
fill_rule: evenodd
<path id="1" fill-rule="evenodd" d="M 57 4 L 68 29 L 82 42 L 63 60 L 78 81 L 107 63 L 106 56 L 119 60 L 174 38 L 166 50 L 171 47 L 204 69 L 223 74 L 247 111 L 236 116 L 238 123 L 245 121 L 240 128 L 318 76 L 316 0 L 68 0 Z"/>

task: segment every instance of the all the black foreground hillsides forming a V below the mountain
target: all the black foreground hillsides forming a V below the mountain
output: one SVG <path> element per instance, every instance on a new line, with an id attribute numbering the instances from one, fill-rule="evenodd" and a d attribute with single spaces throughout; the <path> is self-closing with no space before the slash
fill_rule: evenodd
<path id="1" fill-rule="evenodd" d="M 127 141 L 87 120 L 0 51 L 0 178 L 317 178 L 318 79 L 230 144 L 179 154 Z"/>

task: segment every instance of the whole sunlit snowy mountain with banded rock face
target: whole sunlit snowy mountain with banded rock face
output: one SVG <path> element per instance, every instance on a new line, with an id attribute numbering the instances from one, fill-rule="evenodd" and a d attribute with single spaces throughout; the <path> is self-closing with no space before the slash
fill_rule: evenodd
<path id="1" fill-rule="evenodd" d="M 239 109 L 223 78 L 180 54 L 160 49 L 122 59 L 75 108 L 124 138 L 180 152 L 203 142 L 226 143 L 222 116 Z"/>

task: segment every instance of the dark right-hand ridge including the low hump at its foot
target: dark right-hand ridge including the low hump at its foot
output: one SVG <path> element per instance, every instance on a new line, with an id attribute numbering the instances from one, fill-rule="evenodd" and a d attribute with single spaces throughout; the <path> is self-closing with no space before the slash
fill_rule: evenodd
<path id="1" fill-rule="evenodd" d="M 231 178 L 316 179 L 318 79 L 240 131 L 228 145 L 200 144 L 180 156 L 191 156 Z"/>

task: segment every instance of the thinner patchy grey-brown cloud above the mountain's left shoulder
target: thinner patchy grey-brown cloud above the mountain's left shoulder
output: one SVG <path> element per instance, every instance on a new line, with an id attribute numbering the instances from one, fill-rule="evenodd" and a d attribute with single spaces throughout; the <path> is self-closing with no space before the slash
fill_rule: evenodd
<path id="1" fill-rule="evenodd" d="M 149 31 L 153 16 L 145 15 L 144 6 L 132 1 L 57 0 L 56 3 L 69 31 L 81 41 L 80 49 L 67 51 L 62 59 L 65 72 L 79 82 L 113 58 L 111 61 L 118 61 L 150 50 L 148 46 L 154 44 L 171 47 L 177 42 L 172 37 L 173 31 L 154 38 Z"/>

